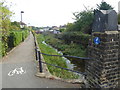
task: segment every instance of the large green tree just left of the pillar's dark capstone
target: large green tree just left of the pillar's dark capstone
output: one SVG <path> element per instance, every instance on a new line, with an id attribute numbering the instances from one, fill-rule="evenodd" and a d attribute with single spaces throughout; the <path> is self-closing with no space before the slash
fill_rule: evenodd
<path id="1" fill-rule="evenodd" d="M 93 23 L 93 10 L 86 9 L 81 12 L 73 13 L 75 22 L 67 25 L 66 31 L 80 31 L 91 34 Z"/>

